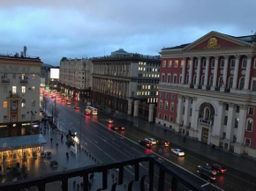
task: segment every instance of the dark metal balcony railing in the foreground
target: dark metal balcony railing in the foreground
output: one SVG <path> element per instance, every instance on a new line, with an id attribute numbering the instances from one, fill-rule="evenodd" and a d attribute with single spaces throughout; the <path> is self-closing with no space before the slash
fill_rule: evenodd
<path id="1" fill-rule="evenodd" d="M 142 175 L 139 178 L 139 169 L 141 170 L 139 164 L 142 162 L 148 163 L 148 170 L 145 175 Z M 84 183 L 83 190 L 88 191 L 89 173 L 102 173 L 102 185 L 99 183 L 99 189 L 97 190 L 110 190 L 109 188 L 111 187 L 111 190 L 115 191 L 117 185 L 124 184 L 124 168 L 128 165 L 134 166 L 132 173 L 132 176 L 134 177 L 132 181 L 128 183 L 128 191 L 132 191 L 132 184 L 134 181 L 140 181 L 139 190 L 145 191 L 145 183 L 147 183 L 146 179 L 148 179 L 149 191 L 163 191 L 166 188 L 170 188 L 172 191 L 177 191 L 178 189 L 180 189 L 180 187 L 184 188 L 185 190 L 193 191 L 206 191 L 209 189 L 218 190 L 216 187 L 213 187 L 211 185 L 208 185 L 207 187 L 201 187 L 200 184 L 205 184 L 205 181 L 200 180 L 191 173 L 186 173 L 184 170 L 180 169 L 180 171 L 178 171 L 177 168 L 175 168 L 174 166 L 166 165 L 165 163 L 162 163 L 162 161 L 160 161 L 159 159 L 156 159 L 152 156 L 133 158 L 130 160 L 124 160 L 108 165 L 90 165 L 77 169 L 67 170 L 65 172 L 49 173 L 37 178 L 19 180 L 15 183 L 6 182 L 0 185 L 0 190 L 13 191 L 28 187 L 38 187 L 38 190 L 44 191 L 46 189 L 46 184 L 54 181 L 61 181 L 62 190 L 67 191 L 68 180 L 73 177 L 82 176 Z M 117 183 L 113 183 L 111 186 L 108 187 L 108 171 L 111 169 L 119 170 L 118 179 Z M 155 173 L 158 173 L 158 176 L 155 176 Z M 165 184 L 167 178 L 170 178 L 169 182 L 171 182 L 170 186 L 168 187 Z M 200 180 L 200 183 L 198 180 Z"/>

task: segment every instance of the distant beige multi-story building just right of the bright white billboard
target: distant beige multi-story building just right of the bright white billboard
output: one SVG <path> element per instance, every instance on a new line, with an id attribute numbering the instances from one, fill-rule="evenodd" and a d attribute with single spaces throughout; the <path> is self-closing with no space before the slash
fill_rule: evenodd
<path id="1" fill-rule="evenodd" d="M 93 63 L 88 59 L 67 59 L 60 61 L 59 82 L 64 96 L 77 99 L 90 98 Z"/>

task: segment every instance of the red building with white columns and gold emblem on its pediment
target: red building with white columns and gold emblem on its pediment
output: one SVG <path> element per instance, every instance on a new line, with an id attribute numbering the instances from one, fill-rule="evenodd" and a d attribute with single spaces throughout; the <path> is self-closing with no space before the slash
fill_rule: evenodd
<path id="1" fill-rule="evenodd" d="M 163 48 L 156 122 L 256 158 L 256 35 Z"/>

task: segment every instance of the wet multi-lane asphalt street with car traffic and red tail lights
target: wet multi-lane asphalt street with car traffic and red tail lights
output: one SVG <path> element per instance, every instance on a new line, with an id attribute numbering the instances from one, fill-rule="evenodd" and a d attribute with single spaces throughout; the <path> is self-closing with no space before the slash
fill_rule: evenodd
<path id="1" fill-rule="evenodd" d="M 52 104 L 54 106 L 54 99 L 47 98 L 47 102 L 47 110 L 50 113 Z M 79 106 L 79 110 L 75 110 L 74 106 Z M 184 149 L 184 157 L 177 157 L 177 155 L 170 153 L 170 149 L 176 148 L 177 145 L 169 139 L 167 139 L 170 142 L 169 148 L 162 151 L 158 145 L 154 145 L 151 150 L 147 150 L 138 144 L 139 140 L 144 140 L 148 137 L 157 139 L 158 136 L 133 126 L 131 121 L 115 119 L 101 110 L 99 110 L 98 115 L 85 115 L 85 104 L 77 101 L 72 102 L 72 105 L 66 105 L 65 102 L 62 103 L 56 100 L 56 107 L 59 110 L 58 128 L 63 129 L 65 132 L 68 129 L 75 129 L 78 132 L 78 138 L 81 136 L 81 145 L 87 151 L 93 153 L 102 163 L 134 158 L 144 154 L 154 154 L 158 158 L 165 158 L 164 160 L 168 165 L 175 166 L 178 171 L 185 173 L 192 180 L 202 185 L 202 187 L 206 187 L 208 190 L 215 190 L 215 187 L 208 184 L 206 180 L 198 177 L 197 169 L 198 165 L 206 165 L 209 162 L 218 163 L 218 161 L 209 161 L 192 151 L 185 150 L 185 143 L 184 148 L 180 148 Z M 109 118 L 114 120 L 115 125 L 124 125 L 126 129 L 114 132 L 110 129 L 111 125 L 106 122 L 106 119 Z M 146 174 L 147 164 L 141 164 L 140 167 L 141 174 Z M 125 170 L 132 173 L 132 166 L 131 169 L 126 168 Z M 132 179 L 132 177 L 130 178 Z M 128 175 L 127 179 L 130 178 Z M 228 172 L 218 175 L 217 180 L 213 184 L 221 187 L 223 190 L 255 190 L 254 179 L 255 177 L 249 174 L 241 173 L 229 167 Z M 166 190 L 169 187 L 170 179 L 167 177 Z"/>

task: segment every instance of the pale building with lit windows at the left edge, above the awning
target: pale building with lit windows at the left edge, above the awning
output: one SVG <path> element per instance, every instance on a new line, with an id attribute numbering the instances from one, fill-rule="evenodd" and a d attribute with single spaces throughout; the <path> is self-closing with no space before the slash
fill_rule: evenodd
<path id="1" fill-rule="evenodd" d="M 39 58 L 0 55 L 0 136 L 39 133 Z"/>

